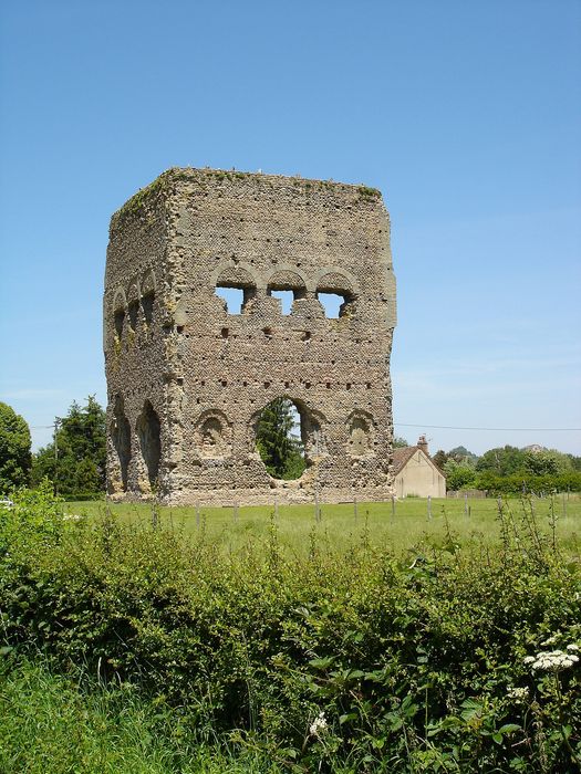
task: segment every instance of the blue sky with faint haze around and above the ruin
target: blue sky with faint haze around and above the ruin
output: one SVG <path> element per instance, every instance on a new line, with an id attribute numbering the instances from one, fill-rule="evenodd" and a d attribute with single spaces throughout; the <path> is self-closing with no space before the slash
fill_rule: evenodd
<path id="1" fill-rule="evenodd" d="M 111 213 L 172 166 L 260 168 L 383 191 L 398 435 L 581 453 L 427 427 L 581 427 L 580 0 L 4 0 L 0 28 L 0 400 L 31 426 L 105 401 Z"/>

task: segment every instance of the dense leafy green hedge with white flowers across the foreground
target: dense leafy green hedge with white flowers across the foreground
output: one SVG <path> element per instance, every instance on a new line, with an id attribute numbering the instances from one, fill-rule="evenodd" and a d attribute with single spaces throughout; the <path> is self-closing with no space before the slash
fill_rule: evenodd
<path id="1" fill-rule="evenodd" d="M 3 652 L 132 684 L 290 771 L 575 771 L 579 557 L 526 501 L 499 519 L 496 550 L 448 531 L 398 557 L 364 527 L 301 558 L 272 517 L 225 556 L 204 524 L 66 520 L 22 492 L 0 519 Z"/>

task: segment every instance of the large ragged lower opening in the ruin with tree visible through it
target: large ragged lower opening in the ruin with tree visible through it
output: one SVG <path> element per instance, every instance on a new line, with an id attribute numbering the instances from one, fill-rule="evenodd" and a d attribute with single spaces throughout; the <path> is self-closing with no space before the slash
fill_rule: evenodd
<path id="1" fill-rule="evenodd" d="M 256 447 L 274 479 L 300 479 L 304 456 L 304 422 L 301 409 L 290 398 L 276 398 L 260 411 L 256 422 Z"/>

